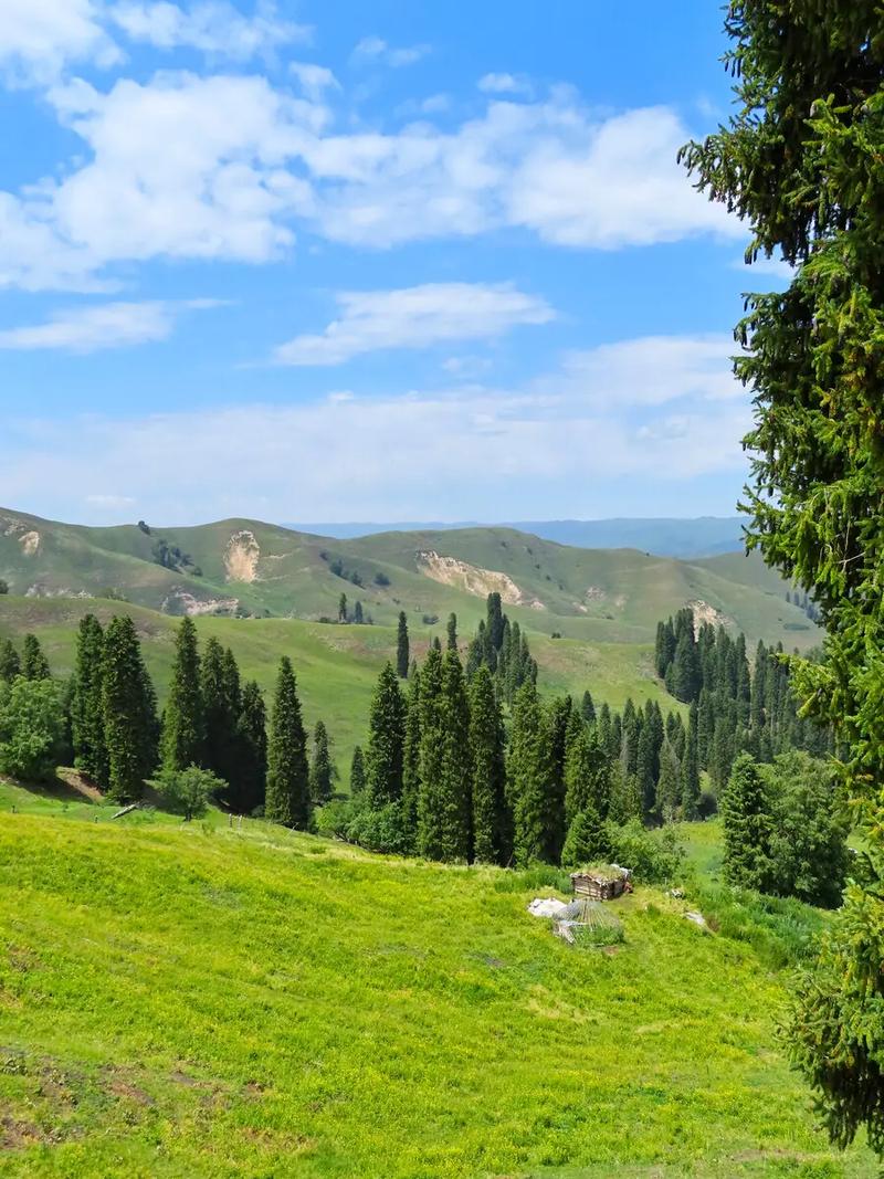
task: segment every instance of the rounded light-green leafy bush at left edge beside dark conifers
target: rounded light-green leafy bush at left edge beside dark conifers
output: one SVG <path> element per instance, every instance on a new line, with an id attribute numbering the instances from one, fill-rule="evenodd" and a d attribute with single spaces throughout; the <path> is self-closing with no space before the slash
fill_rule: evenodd
<path id="1" fill-rule="evenodd" d="M 26 782 L 51 779 L 64 737 L 65 711 L 54 680 L 19 677 L 12 685 L 2 685 L 0 770 Z"/>

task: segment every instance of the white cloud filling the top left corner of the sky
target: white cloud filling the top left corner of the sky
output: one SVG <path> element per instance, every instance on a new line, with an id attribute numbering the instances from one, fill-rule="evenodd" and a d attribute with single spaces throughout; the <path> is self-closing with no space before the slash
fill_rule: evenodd
<path id="1" fill-rule="evenodd" d="M 0 73 L 13 85 L 51 83 L 71 62 L 121 59 L 99 0 L 2 0 Z"/>

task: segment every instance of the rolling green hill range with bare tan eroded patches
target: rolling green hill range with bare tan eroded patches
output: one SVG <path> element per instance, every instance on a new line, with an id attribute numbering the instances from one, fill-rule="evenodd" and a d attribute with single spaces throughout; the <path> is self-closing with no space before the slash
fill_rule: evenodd
<path id="1" fill-rule="evenodd" d="M 167 614 L 318 620 L 336 618 L 345 593 L 384 625 L 400 610 L 416 625 L 454 611 L 464 634 L 496 590 L 532 632 L 595 643 L 651 643 L 660 618 L 691 604 L 750 643 L 806 648 L 819 640 L 758 556 L 679 561 L 510 528 L 332 540 L 252 520 L 85 528 L 0 511 L 0 578 L 14 594 L 121 595 Z"/>

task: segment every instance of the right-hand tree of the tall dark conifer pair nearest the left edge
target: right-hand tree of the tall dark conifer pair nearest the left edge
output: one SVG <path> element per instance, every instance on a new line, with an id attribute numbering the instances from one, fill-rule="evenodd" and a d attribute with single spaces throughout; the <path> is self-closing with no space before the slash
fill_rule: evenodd
<path id="1" fill-rule="evenodd" d="M 127 614 L 112 618 L 105 632 L 101 707 L 108 797 L 138 799 L 157 764 L 157 702 Z"/>

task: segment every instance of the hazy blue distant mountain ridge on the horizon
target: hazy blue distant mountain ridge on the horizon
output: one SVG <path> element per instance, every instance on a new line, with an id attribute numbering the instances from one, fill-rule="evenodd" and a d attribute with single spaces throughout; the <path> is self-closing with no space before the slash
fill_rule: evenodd
<path id="1" fill-rule="evenodd" d="M 678 556 L 692 560 L 700 556 L 718 556 L 720 553 L 743 551 L 741 516 L 695 516 L 693 519 L 629 518 L 609 520 L 513 520 L 499 525 L 480 525 L 476 521 L 444 523 L 440 521 L 401 521 L 398 523 L 371 523 L 348 521 L 344 523 L 286 523 L 296 532 L 317 533 L 337 540 L 356 540 L 384 532 L 454 532 L 461 528 L 515 528 L 542 540 L 554 540 L 560 545 L 578 548 L 638 548 L 654 556 Z"/>

